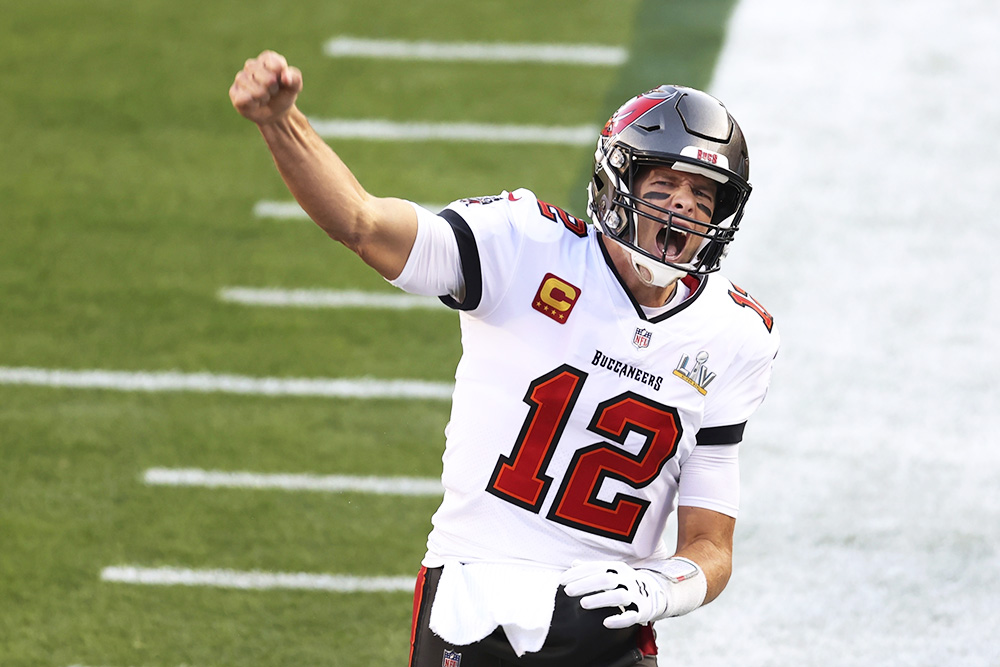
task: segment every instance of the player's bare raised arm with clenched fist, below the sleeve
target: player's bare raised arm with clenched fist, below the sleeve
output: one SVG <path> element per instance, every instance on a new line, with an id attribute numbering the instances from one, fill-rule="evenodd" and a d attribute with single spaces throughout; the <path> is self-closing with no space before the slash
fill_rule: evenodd
<path id="1" fill-rule="evenodd" d="M 236 75 L 229 97 L 257 123 L 299 205 L 329 236 L 387 279 L 399 276 L 417 233 L 407 202 L 369 194 L 295 105 L 302 73 L 264 51 Z"/>

